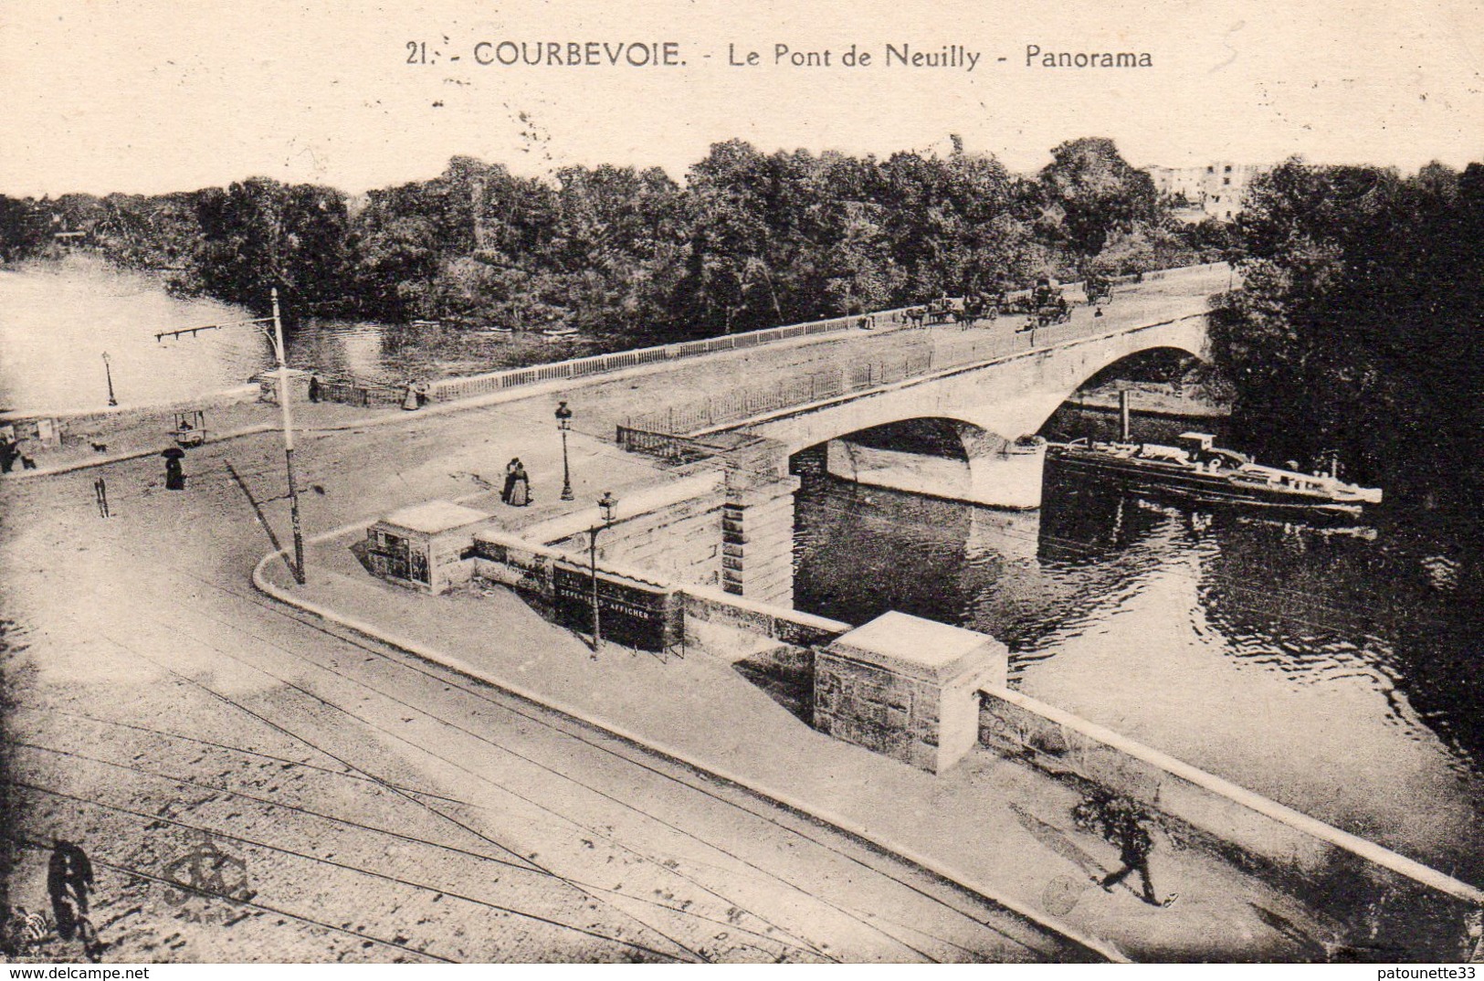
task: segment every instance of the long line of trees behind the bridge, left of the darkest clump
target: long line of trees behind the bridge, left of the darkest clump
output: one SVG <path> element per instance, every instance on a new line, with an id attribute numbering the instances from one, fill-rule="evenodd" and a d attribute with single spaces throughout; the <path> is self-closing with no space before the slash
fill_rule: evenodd
<path id="1" fill-rule="evenodd" d="M 454 157 L 362 196 L 251 178 L 0 197 L 0 260 L 85 230 L 85 248 L 172 289 L 254 309 L 278 286 L 298 313 L 656 341 L 1217 257 L 1221 227 L 1175 221 L 1169 203 L 1103 138 L 1061 144 L 1036 175 L 957 148 L 877 159 L 733 140 L 684 183 L 610 165 L 540 180 Z"/>

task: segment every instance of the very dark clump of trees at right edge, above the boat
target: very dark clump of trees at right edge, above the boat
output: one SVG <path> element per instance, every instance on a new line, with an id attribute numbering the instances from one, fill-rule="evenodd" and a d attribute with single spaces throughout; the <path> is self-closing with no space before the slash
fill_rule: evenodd
<path id="1" fill-rule="evenodd" d="M 1484 168 L 1290 160 L 1254 184 L 1238 232 L 1245 285 L 1215 340 L 1248 444 L 1333 451 L 1393 497 L 1478 514 Z"/>

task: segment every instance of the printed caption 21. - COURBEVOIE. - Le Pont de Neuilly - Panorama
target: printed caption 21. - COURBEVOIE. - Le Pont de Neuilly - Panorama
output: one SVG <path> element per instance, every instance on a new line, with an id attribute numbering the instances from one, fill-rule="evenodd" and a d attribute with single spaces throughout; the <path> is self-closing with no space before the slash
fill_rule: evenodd
<path id="1" fill-rule="evenodd" d="M 447 40 L 447 39 L 445 39 Z M 462 61 L 423 42 L 408 42 L 408 64 Z M 726 68 L 929 68 L 950 71 L 984 70 L 991 64 L 1025 68 L 1152 68 L 1146 50 L 1076 50 L 1025 45 L 1024 53 L 991 56 L 969 45 L 917 45 L 911 42 L 804 47 L 785 43 L 763 46 L 727 43 L 724 50 L 697 52 L 681 42 L 536 42 L 481 40 L 469 59 L 487 67 L 530 68 L 683 68 L 714 64 Z"/>

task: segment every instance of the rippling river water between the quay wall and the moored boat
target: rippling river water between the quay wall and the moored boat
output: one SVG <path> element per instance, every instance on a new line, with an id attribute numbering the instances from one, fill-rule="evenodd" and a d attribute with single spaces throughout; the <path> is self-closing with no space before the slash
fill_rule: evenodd
<path id="1" fill-rule="evenodd" d="M 1112 424 L 1064 408 L 1046 432 Z M 1040 511 L 1008 512 L 821 465 L 797 460 L 800 610 L 991 634 L 1027 695 L 1484 885 L 1480 628 L 1447 542 L 1054 472 Z"/>

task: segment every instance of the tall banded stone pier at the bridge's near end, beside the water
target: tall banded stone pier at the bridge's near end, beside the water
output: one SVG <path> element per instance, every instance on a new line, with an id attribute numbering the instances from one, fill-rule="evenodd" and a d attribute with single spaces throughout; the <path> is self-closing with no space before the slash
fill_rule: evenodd
<path id="1" fill-rule="evenodd" d="M 721 506 L 721 588 L 733 595 L 794 606 L 794 491 L 788 453 L 754 438 L 726 456 Z"/>

